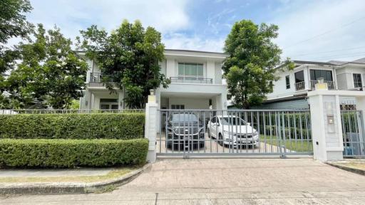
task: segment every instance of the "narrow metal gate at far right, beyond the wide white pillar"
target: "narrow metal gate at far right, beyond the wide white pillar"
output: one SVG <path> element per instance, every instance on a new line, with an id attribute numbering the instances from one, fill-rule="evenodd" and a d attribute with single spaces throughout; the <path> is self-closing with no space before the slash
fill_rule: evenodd
<path id="1" fill-rule="evenodd" d="M 359 110 L 341 110 L 344 157 L 365 157 L 365 137 Z"/>

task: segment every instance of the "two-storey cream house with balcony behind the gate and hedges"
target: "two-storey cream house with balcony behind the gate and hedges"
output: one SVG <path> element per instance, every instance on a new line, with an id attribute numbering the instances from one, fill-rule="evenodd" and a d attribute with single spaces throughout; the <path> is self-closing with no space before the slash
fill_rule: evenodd
<path id="1" fill-rule="evenodd" d="M 78 52 L 85 57 L 83 52 Z M 170 78 L 168 88 L 158 88 L 156 98 L 163 109 L 227 109 L 227 85 L 222 83 L 222 61 L 225 53 L 165 50 L 160 62 L 161 73 Z M 124 90 L 110 94 L 103 86 L 103 74 L 95 61 L 86 59 L 89 70 L 85 96 L 80 100 L 83 110 L 122 110 L 126 108 Z"/>

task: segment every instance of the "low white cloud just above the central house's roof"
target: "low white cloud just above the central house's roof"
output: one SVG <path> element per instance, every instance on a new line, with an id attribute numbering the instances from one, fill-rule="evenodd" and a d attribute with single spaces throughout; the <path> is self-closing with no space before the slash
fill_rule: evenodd
<path id="1" fill-rule="evenodd" d="M 222 52 L 225 38 L 188 37 L 182 33 L 173 33 L 163 39 L 166 48 L 195 51 Z"/>

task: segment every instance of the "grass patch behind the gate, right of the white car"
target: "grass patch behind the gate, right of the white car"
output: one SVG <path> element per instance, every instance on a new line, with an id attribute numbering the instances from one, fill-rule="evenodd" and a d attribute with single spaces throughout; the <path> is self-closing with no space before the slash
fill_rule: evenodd
<path id="1" fill-rule="evenodd" d="M 259 141 L 266 142 L 266 144 L 272 144 L 275 146 L 282 146 L 284 145 L 284 140 L 278 140 L 279 138 L 272 135 L 260 135 Z M 313 152 L 313 143 L 312 141 L 307 140 L 285 140 L 285 148 L 290 149 L 295 152 Z"/>

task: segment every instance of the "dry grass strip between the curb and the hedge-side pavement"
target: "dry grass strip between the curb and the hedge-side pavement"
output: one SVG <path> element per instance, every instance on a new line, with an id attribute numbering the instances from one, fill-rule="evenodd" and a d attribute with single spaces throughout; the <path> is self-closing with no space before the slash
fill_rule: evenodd
<path id="1" fill-rule="evenodd" d="M 125 174 L 139 169 L 141 166 L 118 167 L 106 175 L 97 176 L 70 176 L 70 177 L 0 177 L 0 183 L 20 183 L 20 182 L 102 182 L 108 179 L 122 177 Z"/>

